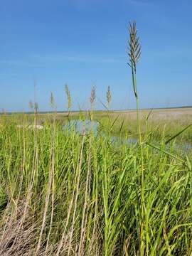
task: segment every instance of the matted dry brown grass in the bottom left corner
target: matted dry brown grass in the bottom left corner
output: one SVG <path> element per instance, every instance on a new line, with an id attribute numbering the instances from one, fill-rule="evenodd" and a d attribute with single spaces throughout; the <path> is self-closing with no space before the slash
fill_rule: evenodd
<path id="1" fill-rule="evenodd" d="M 32 256 L 36 250 L 38 221 L 35 220 L 26 203 L 7 206 L 0 226 L 1 256 Z M 45 247 L 41 247 L 38 256 L 45 255 Z M 48 247 L 46 255 L 53 255 L 53 248 Z"/>

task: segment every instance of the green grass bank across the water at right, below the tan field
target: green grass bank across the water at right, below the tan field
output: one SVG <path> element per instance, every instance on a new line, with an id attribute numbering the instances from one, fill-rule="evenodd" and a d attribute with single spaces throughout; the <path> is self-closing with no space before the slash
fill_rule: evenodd
<path id="1" fill-rule="evenodd" d="M 147 117 L 147 115 L 146 115 Z M 114 136 L 129 136 L 138 139 L 138 127 L 137 119 L 129 118 L 121 114 L 97 114 L 95 121 L 99 122 L 100 129 L 106 130 L 110 125 L 111 132 Z M 141 120 L 141 132 L 145 137 L 146 134 L 149 135 L 151 139 L 161 140 L 163 138 L 169 139 L 177 134 L 182 129 L 185 129 L 189 124 L 191 124 L 190 119 L 186 119 L 183 114 L 182 119 L 149 119 L 146 122 L 146 118 L 143 117 Z M 178 143 L 191 143 L 192 142 L 192 127 L 188 127 L 185 132 L 183 132 L 179 137 L 177 137 Z"/>

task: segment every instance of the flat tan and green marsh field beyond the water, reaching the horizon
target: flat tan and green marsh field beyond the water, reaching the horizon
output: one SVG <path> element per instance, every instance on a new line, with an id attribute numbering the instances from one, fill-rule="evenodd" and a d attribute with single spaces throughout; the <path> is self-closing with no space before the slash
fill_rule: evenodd
<path id="1" fill-rule="evenodd" d="M 39 114 L 39 124 L 43 124 L 49 114 Z M 70 112 L 70 119 L 90 119 L 89 112 Z M 147 118 L 147 127 L 146 127 Z M 55 119 L 60 124 L 68 122 L 68 113 L 58 113 Z M 137 111 L 97 111 L 93 114 L 95 122 L 99 122 L 100 128 L 107 130 L 112 125 L 111 133 L 113 135 L 138 137 L 137 127 Z M 162 137 L 172 137 L 176 133 L 191 124 L 192 108 L 167 108 L 158 110 L 140 110 L 140 122 L 142 123 L 142 134 L 151 133 L 154 139 L 162 139 Z M 192 127 L 183 132 L 178 138 L 178 142 L 187 143 L 192 140 Z"/>

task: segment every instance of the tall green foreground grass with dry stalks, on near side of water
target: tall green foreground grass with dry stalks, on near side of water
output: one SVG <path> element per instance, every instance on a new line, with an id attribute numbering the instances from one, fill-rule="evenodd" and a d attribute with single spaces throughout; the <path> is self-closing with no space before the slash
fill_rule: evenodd
<path id="1" fill-rule="evenodd" d="M 142 202 L 139 144 L 21 119 L 1 118 L 0 255 L 191 255 L 190 152 L 143 143 Z"/>

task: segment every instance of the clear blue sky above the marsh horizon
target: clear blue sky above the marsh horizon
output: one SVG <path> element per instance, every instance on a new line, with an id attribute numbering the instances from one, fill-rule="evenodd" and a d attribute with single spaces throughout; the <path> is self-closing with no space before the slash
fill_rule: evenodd
<path id="1" fill-rule="evenodd" d="M 43 111 L 50 92 L 65 110 L 65 82 L 73 109 L 87 108 L 92 85 L 97 109 L 107 85 L 113 109 L 134 108 L 126 64 L 133 20 L 142 44 L 141 107 L 192 105 L 191 13 L 191 0 L 0 1 L 0 110 L 27 111 L 34 80 Z"/>

